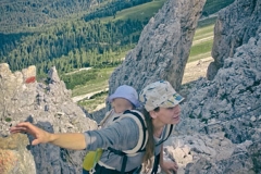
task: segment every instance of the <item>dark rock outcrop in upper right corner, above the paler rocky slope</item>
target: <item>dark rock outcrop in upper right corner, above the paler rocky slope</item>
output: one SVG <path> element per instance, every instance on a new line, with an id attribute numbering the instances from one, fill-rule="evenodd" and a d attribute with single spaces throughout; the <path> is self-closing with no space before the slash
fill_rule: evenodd
<path id="1" fill-rule="evenodd" d="M 233 13 L 232 13 L 233 12 Z M 261 25 L 260 0 L 236 0 L 228 8 L 220 11 L 214 28 L 212 57 L 207 77 L 213 79 L 227 58 L 232 58 L 236 49 L 256 35 Z"/>

